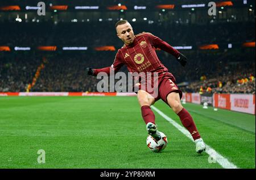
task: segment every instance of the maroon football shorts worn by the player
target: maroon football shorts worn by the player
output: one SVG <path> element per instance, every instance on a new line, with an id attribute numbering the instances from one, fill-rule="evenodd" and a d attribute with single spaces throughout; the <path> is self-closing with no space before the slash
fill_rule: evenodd
<path id="1" fill-rule="evenodd" d="M 180 99 L 182 97 L 182 91 L 179 90 L 179 88 L 176 85 L 176 79 L 172 75 L 172 73 L 165 72 L 158 75 L 158 86 L 156 86 L 156 89 L 154 91 L 148 91 L 146 88 L 147 93 L 152 95 L 152 97 L 155 98 L 155 102 L 159 99 L 162 99 L 164 102 L 167 102 L 167 96 L 168 94 L 172 92 L 179 93 Z M 152 81 L 152 83 L 155 83 Z M 142 89 L 141 86 L 139 86 L 139 89 Z"/>

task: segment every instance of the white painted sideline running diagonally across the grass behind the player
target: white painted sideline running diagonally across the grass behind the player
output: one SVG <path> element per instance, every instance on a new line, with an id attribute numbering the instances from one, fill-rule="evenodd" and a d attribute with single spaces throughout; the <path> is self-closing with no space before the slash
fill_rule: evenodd
<path id="1" fill-rule="evenodd" d="M 162 111 L 158 110 L 158 108 L 156 108 L 154 106 L 151 106 L 151 108 L 153 110 L 155 110 L 156 112 L 158 112 L 158 114 L 160 116 L 162 116 L 164 119 L 166 119 L 172 125 L 174 125 L 174 127 L 176 127 L 180 132 L 182 132 L 185 136 L 187 136 L 189 139 L 191 139 L 194 142 L 191 134 L 187 131 L 187 129 L 185 129 L 181 125 L 177 124 L 173 119 L 169 118 Z M 236 165 L 232 164 L 232 162 L 229 162 L 225 157 L 221 156 L 221 154 L 219 154 L 216 150 L 211 148 L 209 145 L 207 145 L 207 144 L 205 144 L 205 145 L 207 147 L 205 152 L 207 152 L 207 154 L 209 154 L 209 156 L 211 158 L 216 160 L 218 162 L 218 164 L 220 164 L 223 168 L 225 168 L 225 169 L 237 169 L 238 168 Z"/>

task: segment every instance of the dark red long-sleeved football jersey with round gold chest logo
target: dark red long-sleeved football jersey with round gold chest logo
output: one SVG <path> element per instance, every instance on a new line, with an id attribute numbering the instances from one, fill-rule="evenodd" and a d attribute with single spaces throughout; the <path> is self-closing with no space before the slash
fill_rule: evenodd
<path id="1" fill-rule="evenodd" d="M 126 65 L 131 73 L 167 72 L 168 69 L 156 55 L 156 48 L 171 53 L 171 55 L 176 58 L 180 55 L 179 51 L 159 37 L 148 32 L 142 32 L 141 34 L 135 35 L 133 44 L 128 46 L 123 45 L 121 49 L 118 49 L 112 66 L 108 68 L 94 69 L 94 76 L 97 76 L 100 72 L 110 74 L 110 68 L 113 68 L 116 73 L 123 65 Z"/>

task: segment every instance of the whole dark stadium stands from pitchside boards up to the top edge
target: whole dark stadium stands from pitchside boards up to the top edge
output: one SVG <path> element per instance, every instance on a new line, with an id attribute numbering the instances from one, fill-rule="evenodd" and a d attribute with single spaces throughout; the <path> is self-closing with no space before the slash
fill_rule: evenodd
<path id="1" fill-rule="evenodd" d="M 188 57 L 185 68 L 181 68 L 168 53 L 158 52 L 177 82 L 190 84 L 183 90 L 198 93 L 203 85 L 205 90 L 212 87 L 213 92 L 255 93 L 254 83 L 233 88 L 238 79 L 249 78 L 251 74 L 255 76 L 254 1 L 248 0 L 246 4 L 242 0 L 232 1 L 232 6 L 228 6 L 227 1 L 220 1 L 216 16 L 208 15 L 209 1 L 44 2 L 46 15 L 39 16 L 37 10 L 28 9 L 37 6 L 36 1 L 1 1 L 0 45 L 9 47 L 10 51 L 0 53 L 0 91 L 26 91 L 43 57 L 47 58 L 47 64 L 30 91 L 97 91 L 96 78 L 85 77 L 84 70 L 87 66 L 103 68 L 112 64 L 117 49 L 123 45 L 114 29 L 115 22 L 122 18 L 130 21 L 135 34 L 151 32 L 172 46 L 192 46 L 192 49 L 179 50 Z M 182 8 L 182 5 L 202 3 L 205 7 Z M 169 4 L 175 5 L 174 9 L 157 8 Z M 3 10 L 10 5 L 19 6 L 20 10 Z M 51 5 L 61 5 L 55 8 L 64 9 L 49 9 Z M 75 9 L 76 6 L 80 9 Z M 98 6 L 98 9 L 86 10 L 81 6 Z M 110 6 L 117 10 L 108 10 Z M 253 47 L 246 47 L 245 43 L 250 42 L 254 42 Z M 218 49 L 200 49 L 209 44 L 217 44 Z M 56 49 L 40 51 L 40 46 Z M 96 50 L 104 46 L 113 46 L 115 50 Z M 30 47 L 30 51 L 15 51 L 15 47 Z M 87 49 L 63 51 L 63 47 Z M 126 68 L 122 70 L 126 71 Z M 200 81 L 201 76 L 206 76 L 207 81 L 192 83 Z M 218 81 L 224 88 L 217 89 Z"/>

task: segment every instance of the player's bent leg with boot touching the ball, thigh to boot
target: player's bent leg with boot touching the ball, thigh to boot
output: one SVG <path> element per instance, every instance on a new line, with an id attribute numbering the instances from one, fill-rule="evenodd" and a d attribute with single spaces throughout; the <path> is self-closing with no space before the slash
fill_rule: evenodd
<path id="1" fill-rule="evenodd" d="M 139 90 L 137 93 L 138 102 L 141 105 L 141 113 L 148 134 L 154 137 L 156 140 L 161 138 L 159 131 L 155 124 L 155 114 L 151 110 L 150 106 L 155 103 L 155 98 L 144 90 Z"/>

